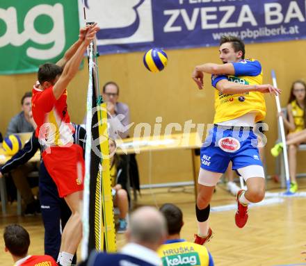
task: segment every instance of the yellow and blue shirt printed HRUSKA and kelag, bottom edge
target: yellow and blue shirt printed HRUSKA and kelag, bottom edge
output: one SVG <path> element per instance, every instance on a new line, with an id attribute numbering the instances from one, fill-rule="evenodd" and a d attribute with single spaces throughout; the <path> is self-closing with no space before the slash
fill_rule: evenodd
<path id="1" fill-rule="evenodd" d="M 167 240 L 157 253 L 163 266 L 214 266 L 214 260 L 206 247 L 184 239 Z"/>

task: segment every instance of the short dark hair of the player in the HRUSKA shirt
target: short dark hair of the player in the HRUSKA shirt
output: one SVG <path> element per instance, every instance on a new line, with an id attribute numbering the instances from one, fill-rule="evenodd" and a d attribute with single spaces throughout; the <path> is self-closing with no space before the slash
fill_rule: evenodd
<path id="1" fill-rule="evenodd" d="M 172 203 L 165 203 L 159 211 L 166 218 L 168 235 L 174 235 L 181 231 L 183 226 L 182 210 Z"/>

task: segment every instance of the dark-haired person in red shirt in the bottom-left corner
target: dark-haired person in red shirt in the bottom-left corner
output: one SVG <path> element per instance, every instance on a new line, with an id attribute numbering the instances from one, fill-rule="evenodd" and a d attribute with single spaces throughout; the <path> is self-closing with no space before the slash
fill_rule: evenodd
<path id="1" fill-rule="evenodd" d="M 18 224 L 6 226 L 3 233 L 5 251 L 10 252 L 16 266 L 49 265 L 57 266 L 54 258 L 48 255 L 28 255 L 30 246 L 29 233 Z"/>

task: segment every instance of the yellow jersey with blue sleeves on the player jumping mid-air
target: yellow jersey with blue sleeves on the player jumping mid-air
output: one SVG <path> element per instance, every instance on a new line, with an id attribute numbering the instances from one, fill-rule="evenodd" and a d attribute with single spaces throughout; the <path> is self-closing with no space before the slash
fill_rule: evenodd
<path id="1" fill-rule="evenodd" d="M 211 85 L 216 88 L 218 81 L 227 79 L 244 85 L 261 85 L 262 69 L 257 60 L 245 59 L 238 63 L 232 63 L 235 75 L 211 75 Z M 261 92 L 245 92 L 243 94 L 223 94 L 219 90 L 215 92 L 214 124 L 225 122 L 247 113 L 255 113 L 255 122 L 259 122 L 266 116 L 266 103 Z"/>

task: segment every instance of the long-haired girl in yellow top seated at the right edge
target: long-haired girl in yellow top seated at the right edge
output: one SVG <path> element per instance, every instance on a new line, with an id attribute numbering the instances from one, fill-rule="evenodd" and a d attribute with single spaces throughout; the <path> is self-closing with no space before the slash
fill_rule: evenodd
<path id="1" fill-rule="evenodd" d="M 306 142 L 306 84 L 304 81 L 295 81 L 291 86 L 290 97 L 287 105 L 287 117 L 283 113 L 284 126 L 289 130 L 287 135 L 288 163 L 290 174 L 290 192 L 295 193 L 298 190 L 296 182 L 296 153 L 298 146 Z M 271 149 L 273 156 L 278 156 L 282 151 L 282 142 L 275 144 Z"/>

